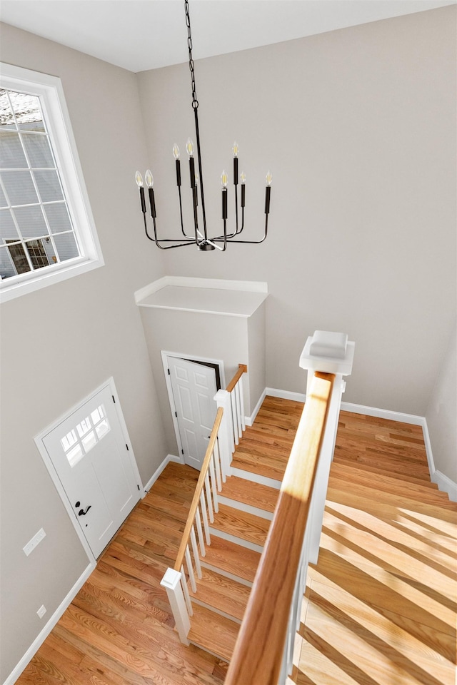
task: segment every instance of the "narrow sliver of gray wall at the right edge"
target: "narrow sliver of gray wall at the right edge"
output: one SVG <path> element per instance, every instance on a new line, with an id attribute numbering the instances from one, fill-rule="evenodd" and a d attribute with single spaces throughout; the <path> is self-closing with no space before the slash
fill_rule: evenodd
<path id="1" fill-rule="evenodd" d="M 435 468 L 454 483 L 457 483 L 456 357 L 457 326 L 454 326 L 426 413 Z"/>

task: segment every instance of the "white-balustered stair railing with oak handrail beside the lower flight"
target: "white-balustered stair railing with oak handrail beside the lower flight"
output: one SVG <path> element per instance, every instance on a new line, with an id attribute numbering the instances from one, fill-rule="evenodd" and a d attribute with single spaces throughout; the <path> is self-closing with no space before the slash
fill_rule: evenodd
<path id="1" fill-rule="evenodd" d="M 219 511 L 218 492 L 230 475 L 230 463 L 235 445 L 246 428 L 243 405 L 243 374 L 246 365 L 238 365 L 226 390 L 216 393 L 217 412 L 209 437 L 199 480 L 173 568 L 166 569 L 161 586 L 166 589 L 176 629 L 181 642 L 189 645 L 188 634 L 193 614 L 189 584 L 196 592 L 196 579 L 201 578 L 201 557 L 206 556 L 206 545 L 211 544 L 209 524 Z"/>

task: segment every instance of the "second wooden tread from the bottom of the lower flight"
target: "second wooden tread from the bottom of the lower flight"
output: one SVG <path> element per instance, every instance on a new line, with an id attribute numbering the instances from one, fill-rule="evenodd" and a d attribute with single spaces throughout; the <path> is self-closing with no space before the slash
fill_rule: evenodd
<path id="1" fill-rule="evenodd" d="M 189 594 L 199 602 L 209 605 L 211 609 L 227 614 L 230 618 L 243 619 L 248 603 L 250 587 L 221 576 L 210 569 L 201 569 L 201 578 L 196 578 L 196 592 L 189 588 Z"/>

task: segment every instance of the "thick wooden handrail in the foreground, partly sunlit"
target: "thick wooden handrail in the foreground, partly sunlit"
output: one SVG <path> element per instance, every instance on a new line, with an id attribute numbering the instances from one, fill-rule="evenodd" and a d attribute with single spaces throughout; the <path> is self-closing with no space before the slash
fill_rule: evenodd
<path id="1" fill-rule="evenodd" d="M 334 379 L 314 373 L 225 685 L 278 685 Z"/>

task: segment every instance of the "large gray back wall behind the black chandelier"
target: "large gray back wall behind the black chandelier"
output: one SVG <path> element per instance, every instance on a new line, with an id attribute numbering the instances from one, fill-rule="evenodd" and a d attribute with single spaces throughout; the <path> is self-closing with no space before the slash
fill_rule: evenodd
<path id="1" fill-rule="evenodd" d="M 273 173 L 270 235 L 226 253 L 172 250 L 166 273 L 268 283 L 269 387 L 303 392 L 306 337 L 341 330 L 356 341 L 345 400 L 425 414 L 456 313 L 455 84 L 455 6 L 196 62 L 211 233 L 236 139 L 253 235 Z M 174 141 L 189 193 L 189 68 L 142 72 L 139 85 L 166 233 Z"/>

